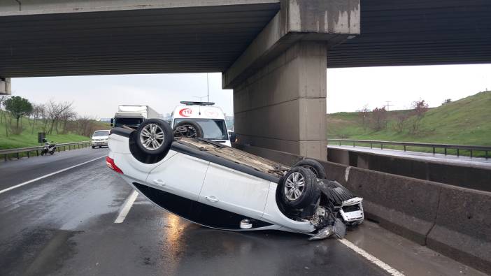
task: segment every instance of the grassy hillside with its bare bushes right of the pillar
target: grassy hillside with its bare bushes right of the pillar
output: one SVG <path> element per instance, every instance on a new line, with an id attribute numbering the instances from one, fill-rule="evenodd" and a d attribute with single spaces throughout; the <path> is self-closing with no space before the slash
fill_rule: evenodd
<path id="1" fill-rule="evenodd" d="M 446 99 L 437 108 L 428 108 L 424 100 L 419 100 L 411 110 L 362 108 L 357 112 L 328 114 L 327 137 L 491 146 L 491 91 L 458 101 Z M 413 147 L 410 150 L 432 151 Z"/>

